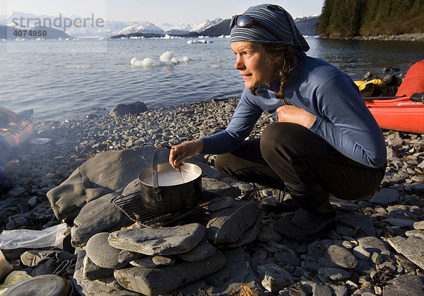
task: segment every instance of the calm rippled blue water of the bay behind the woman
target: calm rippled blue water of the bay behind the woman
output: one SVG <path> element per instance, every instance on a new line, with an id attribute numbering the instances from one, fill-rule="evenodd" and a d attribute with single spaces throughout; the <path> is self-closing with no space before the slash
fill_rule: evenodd
<path id="1" fill-rule="evenodd" d="M 81 118 L 98 108 L 143 101 L 148 108 L 240 96 L 228 39 L 0 41 L 0 106 L 33 108 L 37 120 Z M 384 67 L 408 67 L 423 59 L 424 42 L 307 38 L 308 55 L 335 64 L 353 79 Z M 189 62 L 131 67 L 133 57 L 159 61 L 164 52 Z M 105 112 L 104 110 L 102 112 Z"/>

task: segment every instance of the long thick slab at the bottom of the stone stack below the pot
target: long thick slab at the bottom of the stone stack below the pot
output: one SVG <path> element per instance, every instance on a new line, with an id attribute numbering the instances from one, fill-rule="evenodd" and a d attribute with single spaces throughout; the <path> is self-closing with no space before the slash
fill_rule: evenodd
<path id="1" fill-rule="evenodd" d="M 165 295 L 195 280 L 216 273 L 225 266 L 225 256 L 216 251 L 202 261 L 181 261 L 161 268 L 132 267 L 114 271 L 122 287 L 144 295 Z"/>

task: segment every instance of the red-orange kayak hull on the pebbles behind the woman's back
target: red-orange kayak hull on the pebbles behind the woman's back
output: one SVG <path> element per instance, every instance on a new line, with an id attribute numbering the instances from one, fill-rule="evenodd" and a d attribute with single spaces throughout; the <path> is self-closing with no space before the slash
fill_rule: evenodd
<path id="1" fill-rule="evenodd" d="M 412 96 L 364 99 L 382 129 L 424 134 L 423 95 L 414 93 Z"/>

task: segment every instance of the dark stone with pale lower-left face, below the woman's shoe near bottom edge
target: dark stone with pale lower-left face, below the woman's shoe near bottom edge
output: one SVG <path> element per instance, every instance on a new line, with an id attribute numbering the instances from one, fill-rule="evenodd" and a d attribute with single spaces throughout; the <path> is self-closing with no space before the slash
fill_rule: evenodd
<path id="1" fill-rule="evenodd" d="M 295 283 L 290 273 L 273 263 L 259 266 L 257 273 L 263 278 L 261 283 L 264 288 L 272 293 L 278 293 Z"/>

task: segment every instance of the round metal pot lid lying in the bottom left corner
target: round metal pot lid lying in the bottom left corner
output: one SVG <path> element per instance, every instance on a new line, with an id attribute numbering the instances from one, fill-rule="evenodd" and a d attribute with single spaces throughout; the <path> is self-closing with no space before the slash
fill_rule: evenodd
<path id="1" fill-rule="evenodd" d="M 8 288 L 2 296 L 66 296 L 72 295 L 73 286 L 59 275 L 37 275 Z"/>

